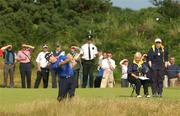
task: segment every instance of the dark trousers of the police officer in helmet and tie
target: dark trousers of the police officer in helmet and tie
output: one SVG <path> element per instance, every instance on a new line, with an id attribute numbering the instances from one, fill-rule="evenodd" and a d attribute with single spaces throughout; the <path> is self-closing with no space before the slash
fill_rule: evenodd
<path id="1" fill-rule="evenodd" d="M 82 88 L 86 88 L 89 76 L 89 87 L 93 88 L 93 68 L 94 60 L 82 60 L 83 66 L 83 83 Z"/>

